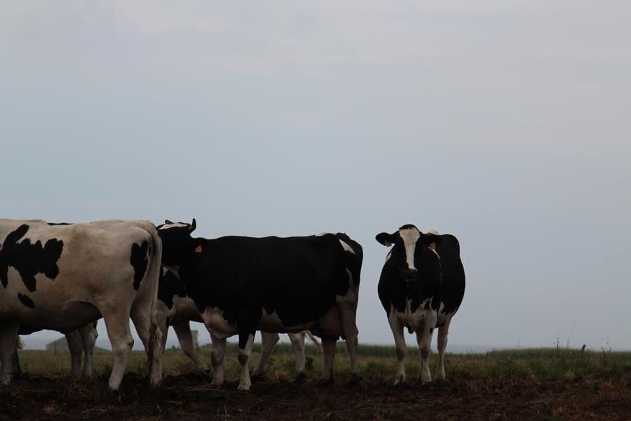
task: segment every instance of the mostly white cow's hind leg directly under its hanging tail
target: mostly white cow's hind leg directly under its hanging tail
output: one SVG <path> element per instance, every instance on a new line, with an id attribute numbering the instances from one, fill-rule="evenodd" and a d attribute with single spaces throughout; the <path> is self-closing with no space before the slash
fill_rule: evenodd
<path id="1" fill-rule="evenodd" d="M 163 333 L 158 328 L 158 315 L 156 306 L 151 305 L 151 300 L 134 302 L 130 312 L 131 319 L 136 328 L 144 351 L 147 352 L 149 361 L 149 385 L 158 386 L 162 382 L 162 354 Z"/>

